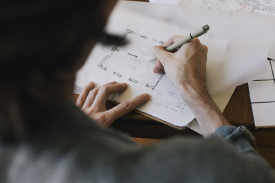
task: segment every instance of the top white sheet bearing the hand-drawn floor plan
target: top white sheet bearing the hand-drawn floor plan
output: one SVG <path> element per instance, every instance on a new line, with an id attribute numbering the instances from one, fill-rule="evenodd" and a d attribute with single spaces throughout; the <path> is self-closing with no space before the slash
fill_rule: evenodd
<path id="1" fill-rule="evenodd" d="M 177 88 L 166 75 L 153 73 L 155 62 L 151 62 L 151 49 L 155 45 L 162 45 L 171 35 L 188 34 L 191 30 L 173 27 L 119 7 L 113 12 L 107 30 L 124 36 L 129 40 L 129 45 L 97 45 L 83 69 L 78 72 L 76 85 L 83 87 L 91 80 L 98 85 L 113 80 L 126 82 L 129 88 L 111 99 L 121 102 L 142 93 L 149 93 L 151 100 L 138 110 L 173 125 L 185 126 L 190 123 L 194 116 L 181 99 Z M 222 62 L 227 40 L 212 38 L 210 34 L 203 38 L 203 41 L 208 45 L 208 63 Z"/>

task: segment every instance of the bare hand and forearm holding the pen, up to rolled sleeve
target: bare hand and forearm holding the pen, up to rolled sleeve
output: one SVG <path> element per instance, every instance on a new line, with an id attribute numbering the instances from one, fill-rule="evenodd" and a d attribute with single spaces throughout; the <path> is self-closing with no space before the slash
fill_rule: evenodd
<path id="1" fill-rule="evenodd" d="M 183 45 L 175 53 L 165 50 L 182 36 L 173 36 L 164 45 L 155 47 L 159 60 L 153 71 L 163 73 L 178 88 L 184 101 L 197 119 L 203 136 L 210 136 L 218 127 L 230 125 L 206 90 L 206 60 L 208 48 L 197 38 Z"/>

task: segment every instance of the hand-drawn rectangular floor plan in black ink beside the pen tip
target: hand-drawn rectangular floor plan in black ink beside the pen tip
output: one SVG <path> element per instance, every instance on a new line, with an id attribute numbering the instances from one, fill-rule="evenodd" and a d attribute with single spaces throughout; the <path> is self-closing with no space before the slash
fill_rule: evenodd
<path id="1" fill-rule="evenodd" d="M 146 82 L 144 86 L 154 90 L 164 74 L 152 72 L 155 62 L 151 62 L 153 58 L 151 49 L 153 46 L 162 45 L 164 42 L 138 34 L 131 29 L 126 29 L 122 37 L 129 40 L 129 42 L 140 42 L 140 44 L 131 45 L 130 47 L 111 47 L 109 53 L 103 56 L 98 63 L 98 67 L 107 72 L 111 71 L 115 76 L 126 77 L 126 80 L 135 84 L 139 83 L 140 80 L 150 78 L 148 82 L 144 81 Z"/>

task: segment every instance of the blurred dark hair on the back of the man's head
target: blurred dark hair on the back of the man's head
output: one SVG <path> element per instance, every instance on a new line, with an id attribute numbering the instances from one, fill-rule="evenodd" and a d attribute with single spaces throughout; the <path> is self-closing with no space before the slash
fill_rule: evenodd
<path id="1" fill-rule="evenodd" d="M 43 75 L 46 82 L 56 82 L 54 71 L 78 69 L 77 60 L 89 40 L 121 41 L 104 33 L 106 3 L 108 0 L 1 3 L 0 141 L 17 141 L 25 134 L 23 125 L 30 113 L 26 110 L 38 102 L 29 94 L 30 80 L 40 81 Z"/>

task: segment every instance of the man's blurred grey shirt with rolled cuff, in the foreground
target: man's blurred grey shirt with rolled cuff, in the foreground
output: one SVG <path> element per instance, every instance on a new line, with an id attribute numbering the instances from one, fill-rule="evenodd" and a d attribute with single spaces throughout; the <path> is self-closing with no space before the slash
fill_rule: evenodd
<path id="1" fill-rule="evenodd" d="M 243 127 L 140 146 L 72 103 L 45 111 L 30 138 L 0 145 L 0 182 L 275 182 Z"/>

